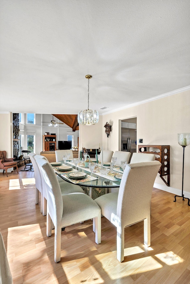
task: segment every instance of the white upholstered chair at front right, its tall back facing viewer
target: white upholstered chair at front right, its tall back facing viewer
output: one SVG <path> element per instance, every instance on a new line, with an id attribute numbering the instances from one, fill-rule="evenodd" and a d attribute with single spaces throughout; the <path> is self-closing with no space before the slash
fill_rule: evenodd
<path id="1" fill-rule="evenodd" d="M 101 213 L 117 227 L 117 259 L 124 260 L 124 228 L 144 221 L 144 244 L 150 246 L 150 213 L 153 184 L 161 163 L 150 161 L 127 164 L 119 192 L 108 193 L 94 201 Z"/>

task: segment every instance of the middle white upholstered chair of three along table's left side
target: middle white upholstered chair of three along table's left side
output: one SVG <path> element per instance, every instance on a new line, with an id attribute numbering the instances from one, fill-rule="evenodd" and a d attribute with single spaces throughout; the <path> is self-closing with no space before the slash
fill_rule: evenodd
<path id="1" fill-rule="evenodd" d="M 39 159 L 39 160 L 46 161 L 50 165 L 50 168 L 52 169 L 52 175 L 57 179 L 57 181 L 59 183 L 59 186 L 61 188 L 61 195 L 66 195 L 66 194 L 75 193 L 75 192 L 80 192 L 80 193 L 85 194 L 84 190 L 79 185 L 66 182 L 61 177 L 59 177 L 59 179 L 58 179 L 56 173 L 53 170 L 53 167 L 48 162 L 47 158 L 45 158 L 42 155 L 35 155 L 34 159 L 35 159 L 36 163 L 37 163 L 37 160 Z M 45 216 L 47 214 L 47 190 L 46 190 L 46 183 L 43 180 L 42 173 L 40 171 L 38 163 L 37 163 L 37 166 L 38 166 L 38 171 L 40 172 L 40 177 L 41 177 L 41 180 L 42 180 L 42 196 L 43 196 L 42 197 L 42 214 Z"/>

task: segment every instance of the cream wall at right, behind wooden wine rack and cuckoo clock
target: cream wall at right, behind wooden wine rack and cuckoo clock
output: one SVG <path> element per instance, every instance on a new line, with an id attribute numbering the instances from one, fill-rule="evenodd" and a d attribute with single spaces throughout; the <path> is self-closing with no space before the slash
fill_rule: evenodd
<path id="1" fill-rule="evenodd" d="M 119 120 L 134 116 L 137 116 L 137 142 L 143 138 L 142 145 L 170 145 L 170 187 L 181 190 L 183 148 L 178 144 L 178 133 L 190 132 L 190 91 L 103 115 L 104 122 L 113 123 L 110 123 L 113 126 L 109 150 L 118 150 Z M 102 128 L 103 146 L 106 147 L 107 138 L 103 133 Z M 183 188 L 186 192 L 190 192 L 189 172 L 190 146 L 185 148 Z M 160 177 L 156 178 L 156 183 L 165 190 L 171 190 Z"/>

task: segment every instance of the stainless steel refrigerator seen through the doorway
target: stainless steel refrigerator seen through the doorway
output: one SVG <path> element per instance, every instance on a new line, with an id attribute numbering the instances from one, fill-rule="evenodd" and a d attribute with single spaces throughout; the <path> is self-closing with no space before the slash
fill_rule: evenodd
<path id="1" fill-rule="evenodd" d="M 137 152 L 137 129 L 121 127 L 121 151 L 131 152 L 130 162 L 132 154 Z"/>

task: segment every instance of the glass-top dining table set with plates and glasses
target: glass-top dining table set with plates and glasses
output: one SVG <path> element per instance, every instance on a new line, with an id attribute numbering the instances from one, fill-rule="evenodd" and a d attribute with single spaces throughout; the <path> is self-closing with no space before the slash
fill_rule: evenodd
<path id="1" fill-rule="evenodd" d="M 121 174 L 121 171 L 116 171 L 115 168 L 114 169 L 114 173 L 113 174 L 107 174 L 107 175 L 101 175 L 99 172 L 99 166 L 97 166 L 95 168 L 95 171 L 93 171 L 92 173 L 92 177 L 93 179 L 90 179 L 90 175 L 91 172 L 88 168 L 82 167 L 79 165 L 75 166 L 73 163 L 71 162 L 66 162 L 67 166 L 72 166 L 73 167 L 73 171 L 77 171 L 77 172 L 84 172 L 87 174 L 87 178 L 85 179 L 69 179 L 68 177 L 68 172 L 63 172 L 59 169 L 59 167 L 57 166 L 53 166 L 56 174 L 61 177 L 63 180 L 70 182 L 70 183 L 74 183 L 74 184 L 78 184 L 81 187 L 83 187 L 84 191 L 86 194 L 88 194 L 91 198 L 95 199 L 97 197 L 99 197 L 100 195 L 103 195 L 105 193 L 108 192 L 109 188 L 118 188 L 120 186 L 121 183 L 121 179 L 116 179 L 115 175 L 117 174 Z M 64 166 L 64 164 L 63 164 Z"/>

